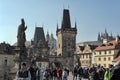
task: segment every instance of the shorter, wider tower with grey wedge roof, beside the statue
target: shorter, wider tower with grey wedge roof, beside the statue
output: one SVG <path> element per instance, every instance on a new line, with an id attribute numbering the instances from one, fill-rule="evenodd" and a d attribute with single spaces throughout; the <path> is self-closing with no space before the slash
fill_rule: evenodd
<path id="1" fill-rule="evenodd" d="M 31 56 L 47 58 L 49 55 L 48 42 L 45 39 L 43 27 L 36 27 L 34 39 L 32 41 Z"/>

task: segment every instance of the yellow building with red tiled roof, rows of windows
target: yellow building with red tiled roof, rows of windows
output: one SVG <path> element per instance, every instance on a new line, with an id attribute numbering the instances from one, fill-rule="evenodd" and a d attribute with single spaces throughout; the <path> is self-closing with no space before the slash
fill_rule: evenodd
<path id="1" fill-rule="evenodd" d="M 95 63 L 104 67 L 112 64 L 114 58 L 117 57 L 120 50 L 120 41 L 118 39 L 107 41 L 95 49 Z"/>

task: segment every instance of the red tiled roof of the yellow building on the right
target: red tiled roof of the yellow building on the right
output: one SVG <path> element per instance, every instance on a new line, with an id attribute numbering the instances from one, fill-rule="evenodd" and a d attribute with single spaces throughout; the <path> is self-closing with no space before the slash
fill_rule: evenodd
<path id="1" fill-rule="evenodd" d="M 108 50 L 108 49 L 118 49 L 120 48 L 120 42 L 113 40 L 113 41 L 109 41 L 106 44 L 102 44 L 100 46 L 98 46 L 95 51 L 99 51 L 99 50 Z"/>

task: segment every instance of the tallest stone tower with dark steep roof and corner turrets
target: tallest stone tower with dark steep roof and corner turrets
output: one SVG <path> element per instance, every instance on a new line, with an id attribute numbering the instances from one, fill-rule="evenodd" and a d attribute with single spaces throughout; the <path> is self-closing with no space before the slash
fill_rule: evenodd
<path id="1" fill-rule="evenodd" d="M 76 48 L 76 34 L 77 34 L 76 27 L 77 27 L 76 23 L 74 28 L 71 27 L 69 10 L 64 9 L 61 28 L 59 29 L 57 25 L 57 31 L 56 31 L 57 55 L 61 55 L 66 59 L 69 58 L 68 61 L 65 60 L 67 61 L 66 63 L 68 64 L 71 64 L 70 62 L 74 61 L 74 52 Z"/>

